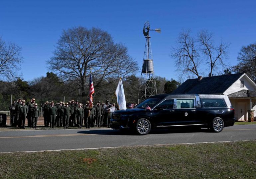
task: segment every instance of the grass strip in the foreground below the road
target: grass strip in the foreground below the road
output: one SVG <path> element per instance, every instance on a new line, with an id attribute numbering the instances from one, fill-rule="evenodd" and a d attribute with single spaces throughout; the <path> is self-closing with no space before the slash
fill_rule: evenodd
<path id="1" fill-rule="evenodd" d="M 0 178 L 255 178 L 256 141 L 0 153 Z"/>

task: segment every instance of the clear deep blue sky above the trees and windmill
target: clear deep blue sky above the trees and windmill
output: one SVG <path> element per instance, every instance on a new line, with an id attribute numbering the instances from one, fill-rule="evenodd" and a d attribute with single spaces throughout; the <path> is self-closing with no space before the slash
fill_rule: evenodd
<path id="1" fill-rule="evenodd" d="M 84 26 L 108 31 L 115 42 L 128 47 L 142 65 L 145 38 L 142 28 L 149 21 L 155 75 L 178 79 L 171 47 L 182 29 L 193 34 L 207 29 L 214 40 L 231 43 L 226 63 L 237 63 L 243 45 L 256 42 L 256 1 L 13 1 L 0 5 L 0 35 L 22 47 L 21 72 L 24 80 L 45 76 L 46 60 L 52 57 L 63 29 Z M 140 71 L 138 74 L 140 75 Z"/>

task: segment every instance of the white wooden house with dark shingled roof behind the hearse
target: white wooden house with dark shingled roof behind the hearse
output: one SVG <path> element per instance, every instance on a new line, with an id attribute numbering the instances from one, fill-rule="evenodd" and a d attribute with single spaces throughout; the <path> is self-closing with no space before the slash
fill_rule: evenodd
<path id="1" fill-rule="evenodd" d="M 190 79 L 173 93 L 226 94 L 237 121 L 256 118 L 256 84 L 245 73 Z"/>

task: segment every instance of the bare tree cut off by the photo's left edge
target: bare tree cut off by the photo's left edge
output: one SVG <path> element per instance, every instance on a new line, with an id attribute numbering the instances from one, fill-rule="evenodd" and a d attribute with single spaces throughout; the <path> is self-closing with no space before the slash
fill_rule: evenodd
<path id="1" fill-rule="evenodd" d="M 19 77 L 21 47 L 15 43 L 6 43 L 0 37 L 0 82 L 16 80 Z"/>

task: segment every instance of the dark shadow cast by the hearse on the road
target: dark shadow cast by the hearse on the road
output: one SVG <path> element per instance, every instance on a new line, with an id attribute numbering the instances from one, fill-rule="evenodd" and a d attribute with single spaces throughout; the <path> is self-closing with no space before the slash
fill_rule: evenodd
<path id="1" fill-rule="evenodd" d="M 173 133 L 210 133 L 211 131 L 208 129 L 186 129 L 186 128 L 178 128 L 178 129 L 152 129 L 149 134 L 173 134 Z M 78 131 L 79 134 L 97 134 L 97 135 L 119 135 L 119 136 L 137 136 L 138 134 L 131 131 L 119 131 L 119 130 L 90 130 L 90 131 Z"/>

